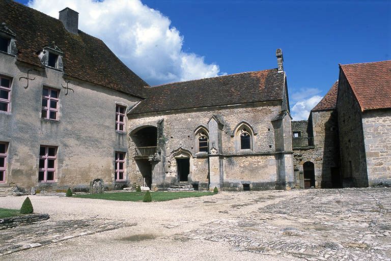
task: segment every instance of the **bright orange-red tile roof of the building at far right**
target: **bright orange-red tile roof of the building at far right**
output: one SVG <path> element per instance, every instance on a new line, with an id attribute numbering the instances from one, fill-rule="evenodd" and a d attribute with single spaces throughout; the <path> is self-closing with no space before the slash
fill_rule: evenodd
<path id="1" fill-rule="evenodd" d="M 361 111 L 391 108 L 391 61 L 340 65 Z"/>

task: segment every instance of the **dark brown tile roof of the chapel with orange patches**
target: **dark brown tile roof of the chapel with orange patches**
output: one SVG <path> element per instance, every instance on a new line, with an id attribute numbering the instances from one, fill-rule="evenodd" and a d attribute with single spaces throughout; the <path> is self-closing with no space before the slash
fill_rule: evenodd
<path id="1" fill-rule="evenodd" d="M 284 78 L 271 69 L 146 87 L 130 114 L 282 100 Z"/>

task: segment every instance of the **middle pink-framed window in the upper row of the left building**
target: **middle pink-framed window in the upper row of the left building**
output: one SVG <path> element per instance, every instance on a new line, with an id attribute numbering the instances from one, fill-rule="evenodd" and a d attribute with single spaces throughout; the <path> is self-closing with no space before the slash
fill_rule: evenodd
<path id="1" fill-rule="evenodd" d="M 60 90 L 43 88 L 41 118 L 56 121 L 59 119 L 59 93 Z"/>

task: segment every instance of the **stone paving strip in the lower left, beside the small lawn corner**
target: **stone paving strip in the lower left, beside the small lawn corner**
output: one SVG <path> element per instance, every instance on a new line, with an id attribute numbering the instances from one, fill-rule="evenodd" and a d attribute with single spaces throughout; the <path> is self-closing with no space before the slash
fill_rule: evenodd
<path id="1" fill-rule="evenodd" d="M 107 219 L 43 221 L 2 230 L 0 256 L 136 224 Z"/>

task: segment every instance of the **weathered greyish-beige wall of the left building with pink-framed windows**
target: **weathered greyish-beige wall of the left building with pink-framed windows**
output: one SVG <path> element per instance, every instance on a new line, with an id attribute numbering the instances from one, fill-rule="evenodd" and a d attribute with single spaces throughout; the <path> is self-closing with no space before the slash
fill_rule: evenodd
<path id="1" fill-rule="evenodd" d="M 6 181 L 0 187 L 14 186 L 30 191 L 89 187 L 101 178 L 114 186 L 115 151 L 126 152 L 126 133 L 115 130 L 116 104 L 130 107 L 139 99 L 103 86 L 63 78 L 63 72 L 31 69 L 16 64 L 16 57 L 0 53 L 0 75 L 12 78 L 11 111 L 0 113 L 0 141 L 8 142 Z M 69 91 L 62 88 L 69 82 Z M 41 118 L 42 89 L 59 94 L 59 120 Z M 54 182 L 38 182 L 40 146 L 55 146 L 57 166 Z"/>

